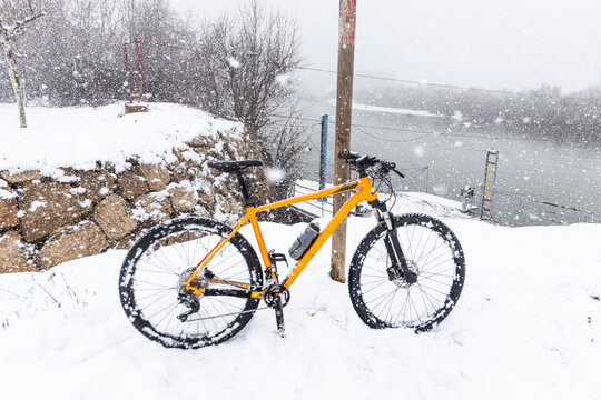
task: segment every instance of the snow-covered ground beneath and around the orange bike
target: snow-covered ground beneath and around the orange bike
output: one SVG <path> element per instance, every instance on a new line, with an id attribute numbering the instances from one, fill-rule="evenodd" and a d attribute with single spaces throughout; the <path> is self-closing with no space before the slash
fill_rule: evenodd
<path id="1" fill-rule="evenodd" d="M 199 350 L 165 349 L 129 323 L 117 290 L 122 250 L 0 276 L 1 398 L 598 399 L 601 226 L 442 217 L 465 250 L 465 288 L 421 334 L 363 324 L 347 287 L 328 278 L 327 246 L 292 287 L 285 339 L 266 310 Z M 349 251 L 372 224 L 351 218 Z M 304 226 L 262 228 L 285 251 Z"/>

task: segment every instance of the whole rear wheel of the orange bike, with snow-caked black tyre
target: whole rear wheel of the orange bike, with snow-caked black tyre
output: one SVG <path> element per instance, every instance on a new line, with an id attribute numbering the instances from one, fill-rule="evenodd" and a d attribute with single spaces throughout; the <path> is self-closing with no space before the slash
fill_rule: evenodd
<path id="1" fill-rule="evenodd" d="M 248 323 L 259 302 L 249 291 L 262 287 L 263 276 L 255 251 L 239 233 L 195 279 L 205 294 L 183 289 L 196 264 L 230 233 L 231 228 L 210 219 L 181 218 L 151 228 L 131 247 L 121 266 L 119 294 L 144 336 L 165 347 L 199 348 L 220 343 Z"/>

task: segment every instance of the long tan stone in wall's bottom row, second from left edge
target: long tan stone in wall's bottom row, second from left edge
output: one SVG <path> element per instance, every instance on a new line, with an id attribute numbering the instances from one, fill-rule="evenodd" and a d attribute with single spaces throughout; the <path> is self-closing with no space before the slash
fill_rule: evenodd
<path id="1" fill-rule="evenodd" d="M 108 246 L 100 228 L 87 221 L 68 228 L 57 239 L 46 243 L 40 251 L 39 262 L 41 268 L 49 269 L 70 260 L 98 254 Z"/>

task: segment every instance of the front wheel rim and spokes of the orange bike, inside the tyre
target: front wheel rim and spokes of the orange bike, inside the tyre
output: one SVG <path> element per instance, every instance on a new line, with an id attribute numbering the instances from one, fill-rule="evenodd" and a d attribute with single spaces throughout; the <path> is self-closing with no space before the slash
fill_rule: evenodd
<path id="1" fill-rule="evenodd" d="M 385 234 L 385 230 L 381 232 L 363 262 L 359 291 L 368 312 L 387 327 L 428 327 L 444 318 L 452 308 L 456 280 L 454 242 L 428 224 L 400 226 L 401 248 L 407 266 L 417 273 L 417 282 L 408 284 L 386 272 L 391 259 Z"/>

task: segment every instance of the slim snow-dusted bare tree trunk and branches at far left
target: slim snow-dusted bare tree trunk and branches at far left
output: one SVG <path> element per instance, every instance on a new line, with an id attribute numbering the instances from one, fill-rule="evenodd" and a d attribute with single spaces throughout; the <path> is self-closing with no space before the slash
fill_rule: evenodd
<path id="1" fill-rule="evenodd" d="M 19 19 L 18 17 L 13 18 L 13 22 L 11 24 L 6 21 L 7 16 L 0 13 L 0 47 L 2 47 L 2 50 L 4 50 L 9 78 L 12 84 L 12 91 L 14 93 L 17 108 L 19 109 L 19 121 L 21 128 L 27 128 L 27 119 L 23 104 L 24 88 L 22 87 L 21 77 L 17 67 L 14 42 L 18 37 L 23 34 L 26 24 L 35 21 L 43 14 L 42 12 L 35 13 L 30 1 L 27 3 L 27 9 L 22 10 L 18 9 L 12 1 L 2 2 L 2 13 L 11 10 L 14 12 L 16 16 L 18 16 L 19 13 L 23 13 L 23 11 L 24 13 L 27 13 L 22 19 Z"/>

